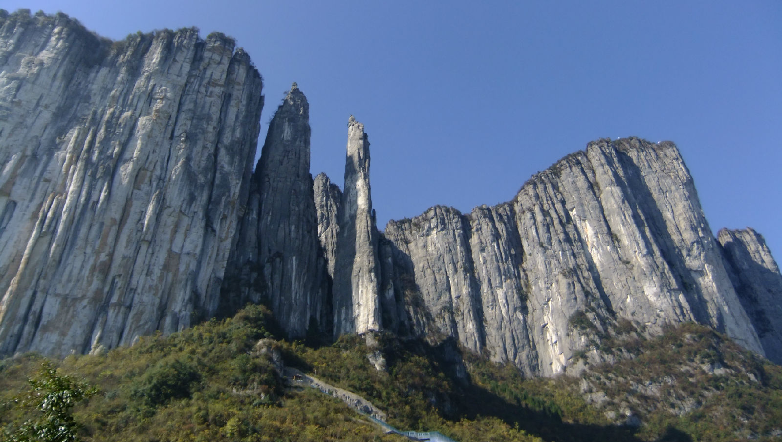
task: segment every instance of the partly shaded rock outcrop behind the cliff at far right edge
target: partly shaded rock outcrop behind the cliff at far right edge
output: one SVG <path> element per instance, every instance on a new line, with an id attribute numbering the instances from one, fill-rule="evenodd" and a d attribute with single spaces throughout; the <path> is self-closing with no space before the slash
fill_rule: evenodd
<path id="1" fill-rule="evenodd" d="M 766 241 L 752 229 L 719 230 L 717 241 L 766 357 L 782 364 L 782 275 Z"/>

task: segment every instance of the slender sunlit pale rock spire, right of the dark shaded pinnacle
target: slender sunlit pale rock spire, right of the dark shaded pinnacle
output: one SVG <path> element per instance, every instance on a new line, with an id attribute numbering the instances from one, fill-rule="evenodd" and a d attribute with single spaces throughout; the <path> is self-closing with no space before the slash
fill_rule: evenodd
<path id="1" fill-rule="evenodd" d="M 380 330 L 378 230 L 369 186 L 369 139 L 348 121 L 345 186 L 334 268 L 334 333 Z"/>

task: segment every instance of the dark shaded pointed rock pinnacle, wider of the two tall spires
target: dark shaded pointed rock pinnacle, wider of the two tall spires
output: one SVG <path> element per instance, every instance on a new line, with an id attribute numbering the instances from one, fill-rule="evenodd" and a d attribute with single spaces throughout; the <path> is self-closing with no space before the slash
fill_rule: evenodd
<path id="1" fill-rule="evenodd" d="M 290 337 L 303 337 L 310 319 L 324 322 L 309 115 L 294 83 L 269 123 L 224 293 L 228 314 L 267 298 Z"/>

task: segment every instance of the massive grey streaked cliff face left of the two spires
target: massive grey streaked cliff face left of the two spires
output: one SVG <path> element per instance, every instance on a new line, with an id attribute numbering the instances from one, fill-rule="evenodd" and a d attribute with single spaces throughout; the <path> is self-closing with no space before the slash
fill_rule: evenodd
<path id="1" fill-rule="evenodd" d="M 0 353 L 129 344 L 208 317 L 261 79 L 221 34 L 111 42 L 0 17 Z"/>

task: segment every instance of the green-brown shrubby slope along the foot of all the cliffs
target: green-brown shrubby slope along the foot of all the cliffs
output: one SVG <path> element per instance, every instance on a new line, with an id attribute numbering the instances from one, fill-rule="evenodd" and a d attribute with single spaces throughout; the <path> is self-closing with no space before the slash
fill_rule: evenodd
<path id="1" fill-rule="evenodd" d="M 40 357 L 2 360 L 0 426 L 5 439 L 21 434 L 31 415 L 14 399 L 49 382 L 56 387 L 46 394 L 74 392 L 64 409 L 73 407 L 68 427 L 82 440 L 404 440 L 320 391 L 286 386 L 278 372 L 285 364 L 366 397 L 400 430 L 455 440 L 770 440 L 782 433 L 782 369 L 719 333 L 686 324 L 646 339 L 627 321 L 601 332 L 586 312 L 571 325 L 610 340 L 619 361 L 581 377 L 530 380 L 450 340 L 432 345 L 380 333 L 371 348 L 357 336 L 324 344 L 310 327 L 306 344 L 288 342 L 278 339 L 267 308 L 249 306 L 131 348 L 70 356 L 57 369 L 45 362 L 36 384 L 27 377 Z M 375 351 L 386 371 L 369 362 Z M 87 383 L 99 393 L 90 397 Z M 642 424 L 622 425 L 638 423 L 628 416 Z"/>

